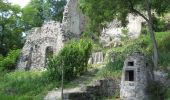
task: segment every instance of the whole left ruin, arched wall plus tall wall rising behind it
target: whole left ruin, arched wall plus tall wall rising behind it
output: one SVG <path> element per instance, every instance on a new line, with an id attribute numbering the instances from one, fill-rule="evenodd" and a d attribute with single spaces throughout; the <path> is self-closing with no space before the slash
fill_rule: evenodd
<path id="1" fill-rule="evenodd" d="M 78 0 L 67 0 L 62 23 L 49 21 L 28 31 L 17 69 L 45 69 L 48 58 L 59 52 L 70 35 L 82 33 L 85 21 L 77 3 Z"/>

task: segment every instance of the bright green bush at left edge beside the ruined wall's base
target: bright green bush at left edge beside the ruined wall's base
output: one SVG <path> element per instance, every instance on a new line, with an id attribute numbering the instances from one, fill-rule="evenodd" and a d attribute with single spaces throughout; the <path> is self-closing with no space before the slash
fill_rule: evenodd
<path id="1" fill-rule="evenodd" d="M 12 50 L 8 53 L 6 57 L 0 60 L 1 70 L 12 70 L 15 69 L 17 64 L 17 58 L 19 57 L 20 50 Z"/>

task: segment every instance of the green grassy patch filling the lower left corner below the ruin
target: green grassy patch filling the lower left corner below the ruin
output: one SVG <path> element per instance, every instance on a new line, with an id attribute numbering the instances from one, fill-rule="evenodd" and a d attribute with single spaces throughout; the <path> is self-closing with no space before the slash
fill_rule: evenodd
<path id="1" fill-rule="evenodd" d="M 48 80 L 46 72 L 16 71 L 1 75 L 1 100 L 42 100 L 59 83 Z"/>

